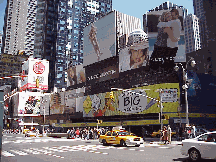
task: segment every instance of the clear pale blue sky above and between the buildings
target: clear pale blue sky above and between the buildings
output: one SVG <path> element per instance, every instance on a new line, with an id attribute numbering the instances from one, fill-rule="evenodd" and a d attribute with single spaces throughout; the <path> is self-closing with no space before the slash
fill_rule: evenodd
<path id="1" fill-rule="evenodd" d="M 4 14 L 7 0 L 0 0 L 0 31 L 3 31 Z M 141 19 L 146 11 L 159 6 L 166 0 L 112 0 L 113 9 L 124 14 L 131 15 Z M 170 1 L 179 6 L 184 6 L 188 9 L 188 13 L 194 13 L 193 0 L 172 0 Z"/>

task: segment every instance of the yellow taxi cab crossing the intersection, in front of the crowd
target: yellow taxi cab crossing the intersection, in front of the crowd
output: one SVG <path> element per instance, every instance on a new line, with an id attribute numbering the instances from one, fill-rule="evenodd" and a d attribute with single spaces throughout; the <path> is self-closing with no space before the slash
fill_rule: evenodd
<path id="1" fill-rule="evenodd" d="M 117 144 L 120 146 L 140 146 L 144 141 L 141 137 L 135 136 L 125 130 L 112 130 L 108 131 L 105 135 L 101 135 L 99 142 L 104 146 L 108 144 Z"/>

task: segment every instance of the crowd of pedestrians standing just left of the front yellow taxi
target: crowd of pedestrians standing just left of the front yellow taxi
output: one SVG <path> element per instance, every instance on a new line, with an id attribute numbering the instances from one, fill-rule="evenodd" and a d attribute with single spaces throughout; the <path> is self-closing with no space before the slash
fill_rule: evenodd
<path id="1" fill-rule="evenodd" d="M 68 129 L 68 138 L 80 138 L 80 139 L 98 139 L 100 135 L 105 135 L 106 130 L 104 128 L 71 128 Z"/>

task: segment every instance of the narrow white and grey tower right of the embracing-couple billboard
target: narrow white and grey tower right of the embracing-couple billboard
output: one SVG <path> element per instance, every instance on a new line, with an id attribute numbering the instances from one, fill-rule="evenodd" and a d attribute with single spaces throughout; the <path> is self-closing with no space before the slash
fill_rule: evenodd
<path id="1" fill-rule="evenodd" d="M 199 18 L 196 15 L 189 14 L 184 19 L 185 47 L 186 53 L 201 49 Z"/>

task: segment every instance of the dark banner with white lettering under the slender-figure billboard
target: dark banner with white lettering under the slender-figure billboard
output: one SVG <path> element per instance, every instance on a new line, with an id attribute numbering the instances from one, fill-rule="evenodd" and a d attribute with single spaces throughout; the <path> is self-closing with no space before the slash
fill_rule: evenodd
<path id="1" fill-rule="evenodd" d="M 86 68 L 87 82 L 95 83 L 119 77 L 117 57 L 109 58 L 97 65 Z"/>

